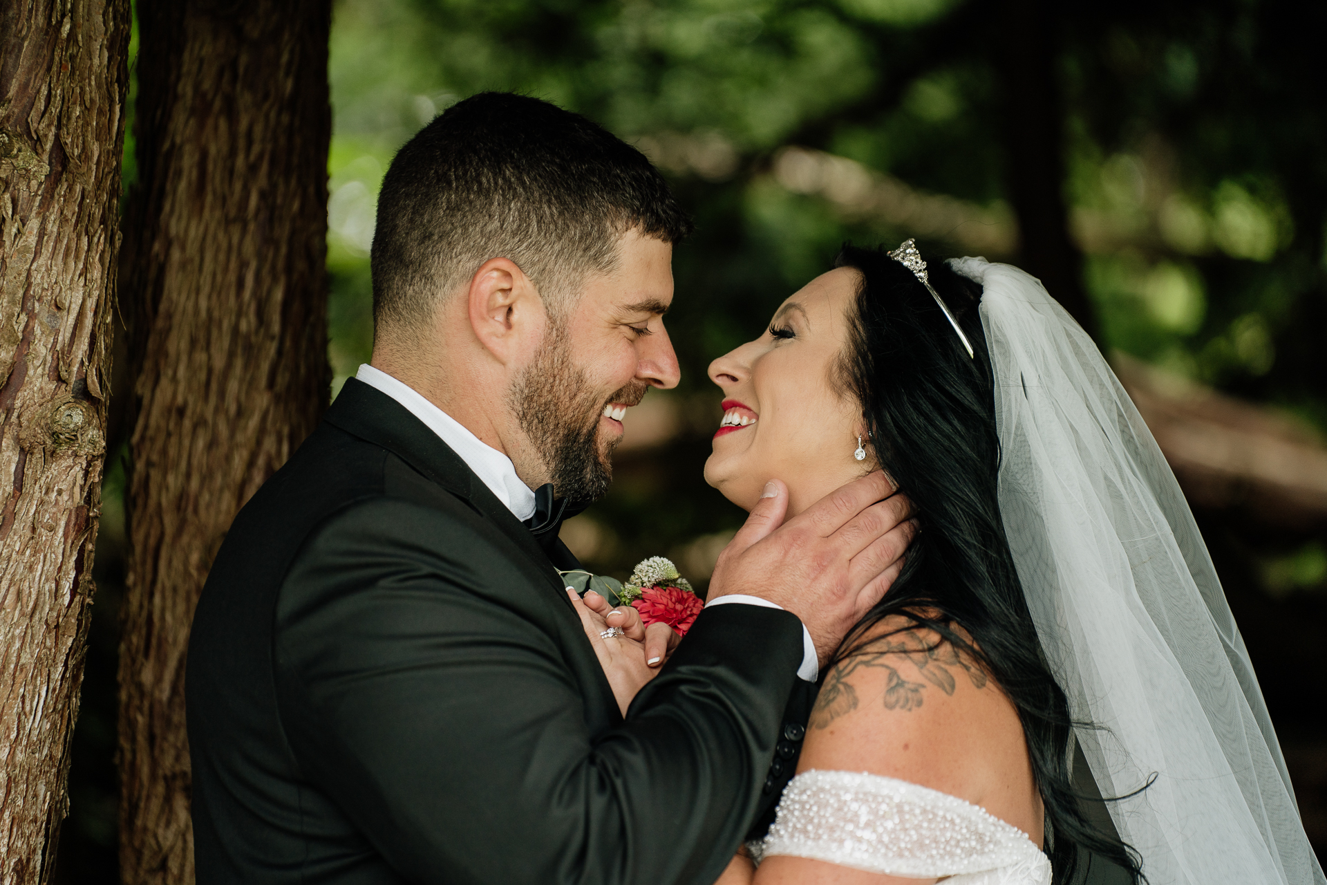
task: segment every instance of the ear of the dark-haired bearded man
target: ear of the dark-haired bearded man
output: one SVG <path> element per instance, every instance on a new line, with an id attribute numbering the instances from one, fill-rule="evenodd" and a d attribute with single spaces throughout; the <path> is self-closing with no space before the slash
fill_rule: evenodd
<path id="1" fill-rule="evenodd" d="M 544 337 L 544 301 L 511 259 L 488 259 L 475 271 L 466 305 L 475 338 L 503 365 L 525 362 Z"/>

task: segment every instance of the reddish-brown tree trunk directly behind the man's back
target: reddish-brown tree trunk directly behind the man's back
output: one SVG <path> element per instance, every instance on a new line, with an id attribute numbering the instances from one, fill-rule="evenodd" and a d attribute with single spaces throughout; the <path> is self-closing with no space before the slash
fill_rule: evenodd
<path id="1" fill-rule="evenodd" d="M 190 882 L 184 654 L 235 513 L 326 405 L 330 0 L 141 0 L 121 876 Z"/>

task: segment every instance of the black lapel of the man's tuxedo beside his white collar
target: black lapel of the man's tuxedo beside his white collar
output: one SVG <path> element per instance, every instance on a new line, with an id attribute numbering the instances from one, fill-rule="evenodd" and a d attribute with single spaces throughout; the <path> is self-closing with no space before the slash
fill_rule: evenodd
<path id="1" fill-rule="evenodd" d="M 348 378 L 324 421 L 393 452 L 418 472 L 463 499 L 480 516 L 507 536 L 557 589 L 557 596 L 571 609 L 563 593 L 557 569 L 540 549 L 529 531 L 488 487 L 454 452 L 438 434 L 415 418 L 409 409 L 372 385 Z"/>

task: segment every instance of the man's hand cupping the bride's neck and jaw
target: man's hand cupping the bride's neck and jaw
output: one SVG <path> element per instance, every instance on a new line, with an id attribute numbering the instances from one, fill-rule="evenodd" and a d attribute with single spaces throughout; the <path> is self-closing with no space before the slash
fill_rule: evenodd
<path id="1" fill-rule="evenodd" d="M 784 523 L 788 488 L 771 480 L 719 556 L 709 598 L 744 593 L 782 605 L 802 618 L 824 666 L 902 569 L 917 521 L 897 491 L 876 471 Z"/>

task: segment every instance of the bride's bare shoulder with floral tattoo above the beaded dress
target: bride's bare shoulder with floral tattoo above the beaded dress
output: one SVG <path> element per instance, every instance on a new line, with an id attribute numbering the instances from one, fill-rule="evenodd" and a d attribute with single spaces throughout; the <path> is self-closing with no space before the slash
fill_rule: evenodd
<path id="1" fill-rule="evenodd" d="M 1031 784 L 1014 705 L 970 653 L 906 616 L 876 625 L 825 675 L 798 767 L 869 771 L 977 804 L 1010 775 L 1018 793 Z"/>

